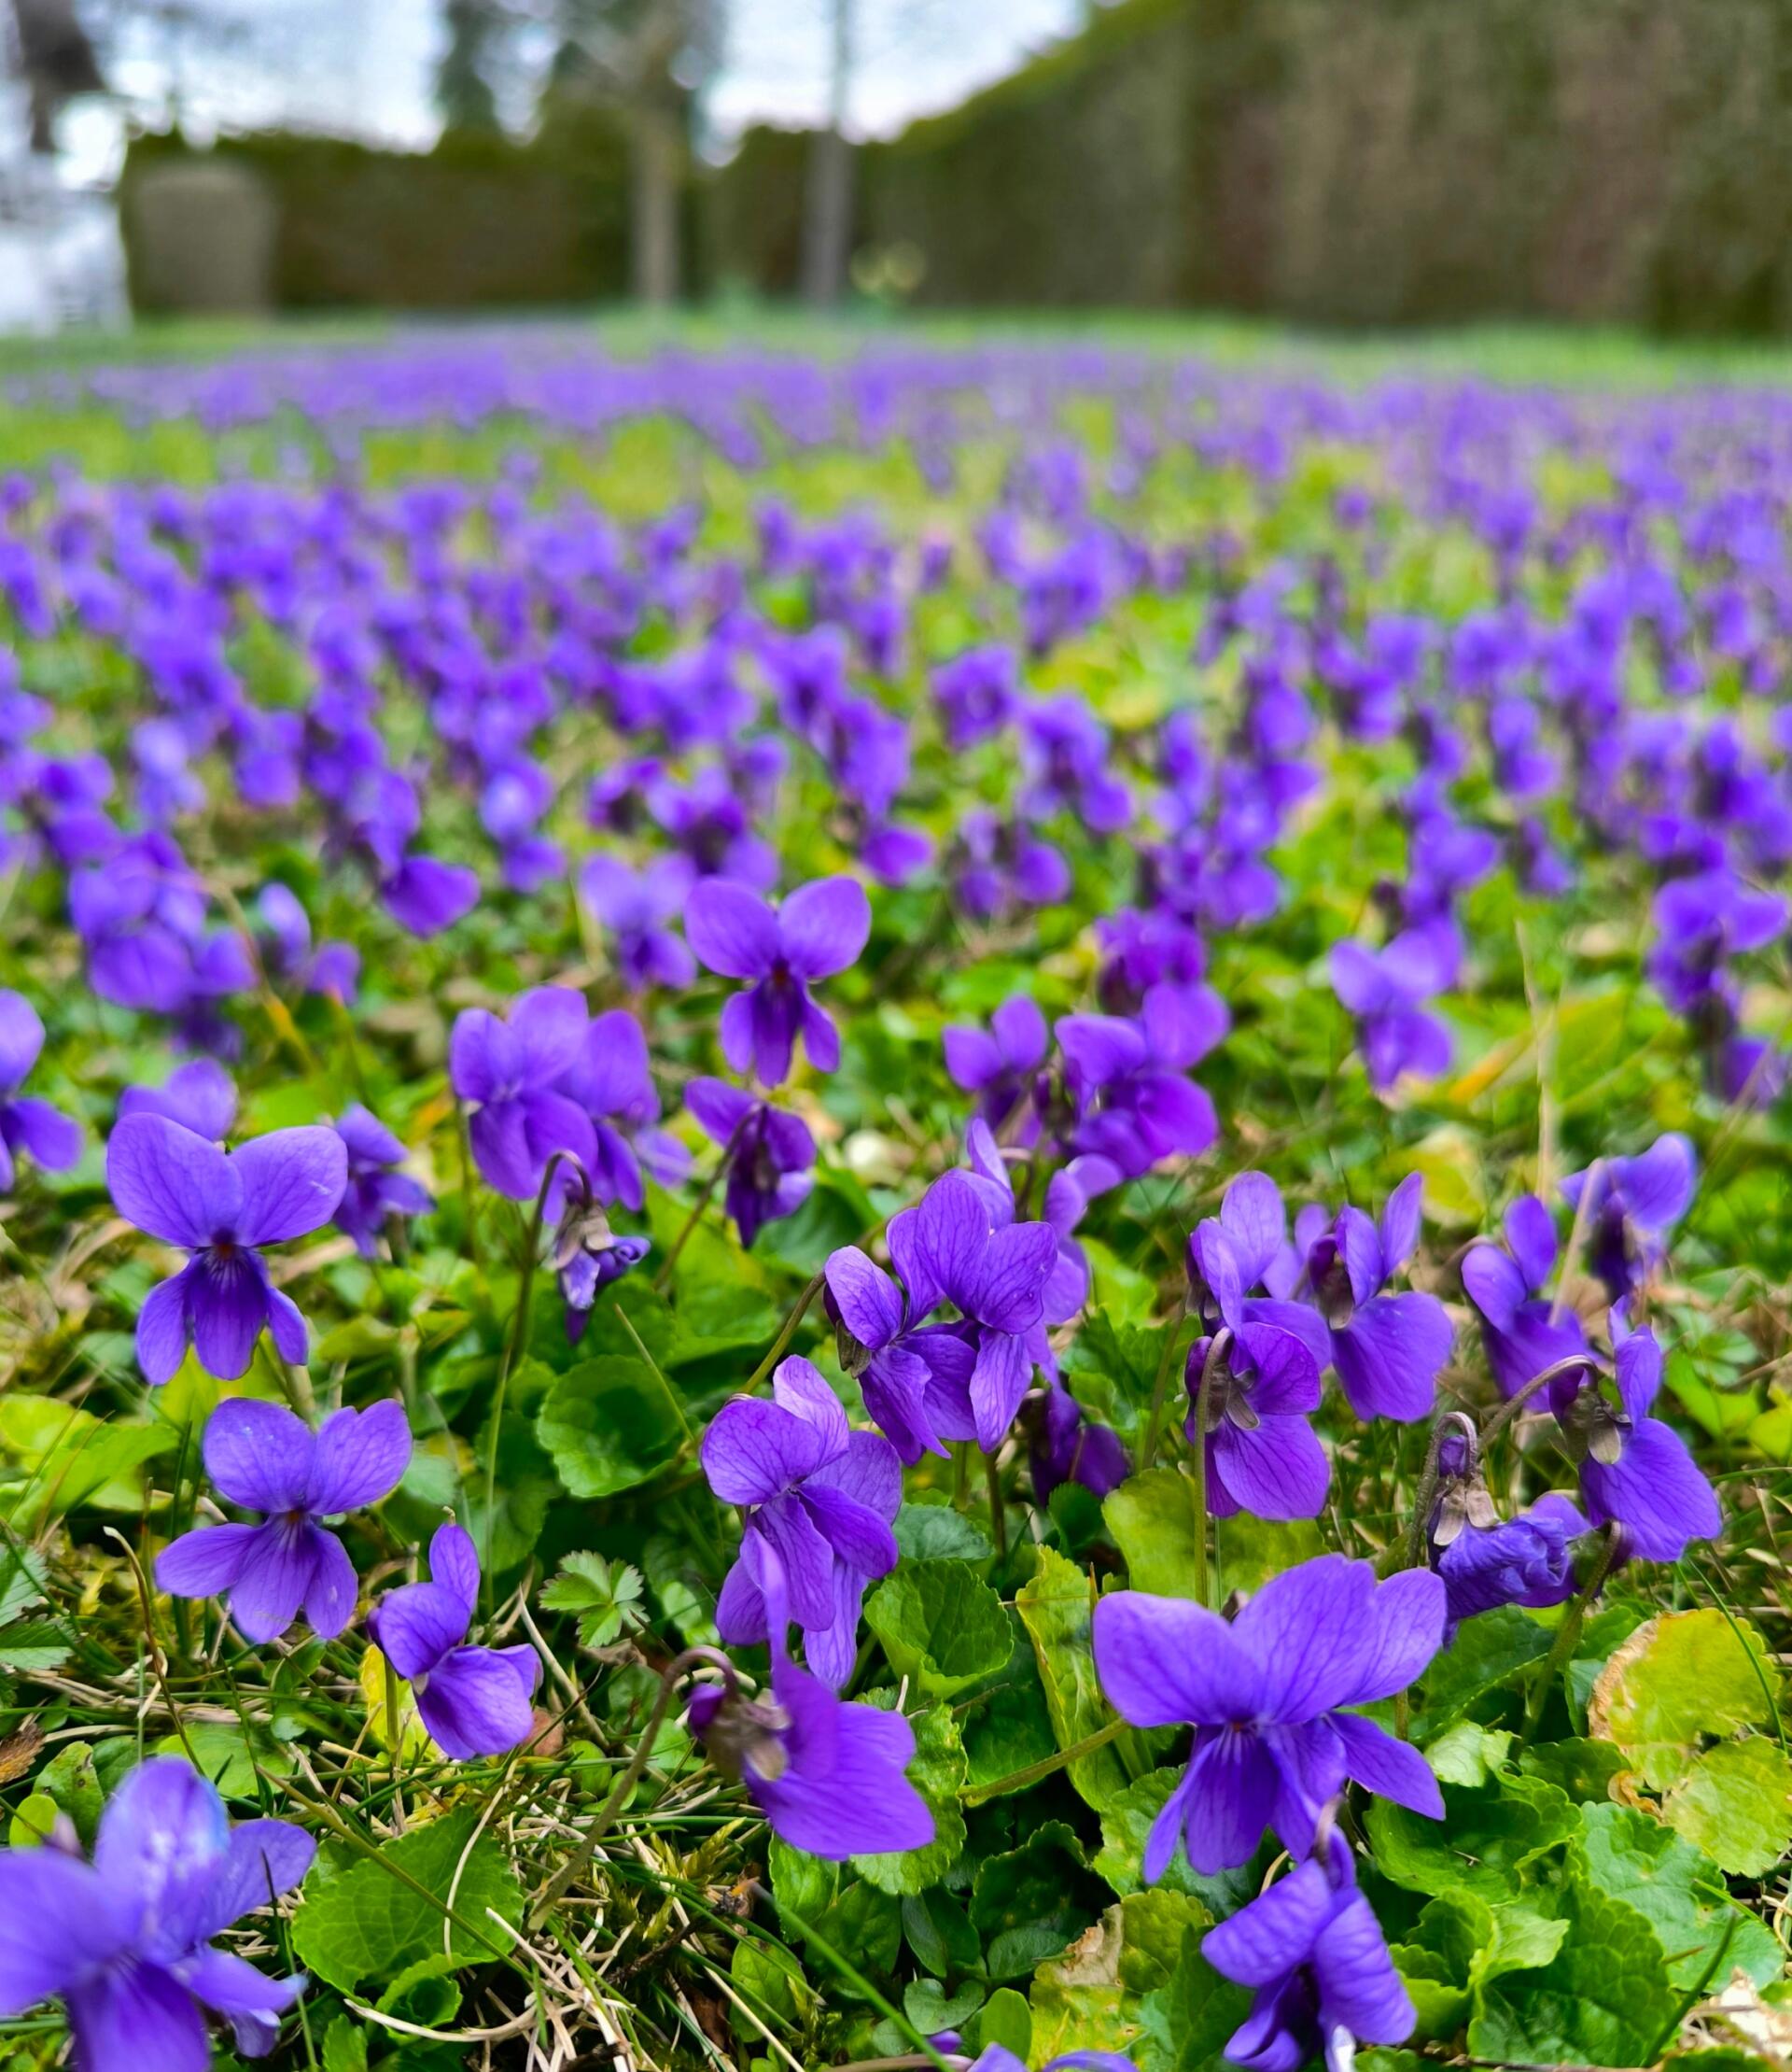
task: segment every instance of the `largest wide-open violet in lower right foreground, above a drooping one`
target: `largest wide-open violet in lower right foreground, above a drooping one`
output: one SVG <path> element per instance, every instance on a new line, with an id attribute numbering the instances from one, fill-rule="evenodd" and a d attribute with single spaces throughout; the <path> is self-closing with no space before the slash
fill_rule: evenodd
<path id="1" fill-rule="evenodd" d="M 1284 1569 L 1231 1624 L 1183 1598 L 1102 1598 L 1094 1649 L 1108 1703 L 1131 1726 L 1195 1728 L 1187 1776 L 1146 1840 L 1146 1883 L 1177 1838 L 1204 1875 L 1247 1863 L 1264 1828 L 1303 1854 L 1345 1778 L 1442 1819 L 1425 1757 L 1342 1707 L 1405 1691 L 1444 1639 L 1444 1606 L 1425 1569 L 1376 1583 L 1369 1562 L 1338 1554 Z"/>

